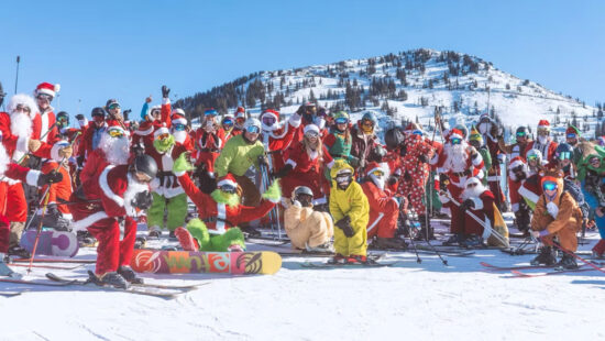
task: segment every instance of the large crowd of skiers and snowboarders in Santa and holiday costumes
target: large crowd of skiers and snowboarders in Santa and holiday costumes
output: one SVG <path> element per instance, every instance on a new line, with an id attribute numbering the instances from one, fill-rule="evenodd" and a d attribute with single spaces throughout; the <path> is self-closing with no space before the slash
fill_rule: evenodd
<path id="1" fill-rule="evenodd" d="M 405 250 L 403 237 L 435 240 L 437 212 L 450 217 L 443 244 L 506 248 L 502 212 L 512 209 L 516 228 L 544 245 L 534 264 L 573 268 L 554 248 L 575 252 L 582 229 L 605 238 L 605 150 L 571 125 L 561 143 L 540 120 L 536 140 L 519 127 L 507 144 L 487 114 L 472 127 L 437 117 L 439 139 L 418 123 L 381 139 L 375 112 L 353 122 L 308 102 L 287 119 L 210 108 L 194 129 L 163 86 L 161 105 L 146 98 L 138 122 L 109 99 L 72 127 L 51 107 L 56 91 L 42 82 L 0 113 L 0 263 L 30 256 L 20 245 L 28 217 L 98 243 L 96 274 L 122 287 L 142 280 L 129 266 L 138 222 L 147 238 L 167 230 L 184 250 L 226 252 L 280 224 L 293 248 L 336 263 L 370 262 L 369 245 Z M 603 256 L 605 242 L 593 251 Z"/>

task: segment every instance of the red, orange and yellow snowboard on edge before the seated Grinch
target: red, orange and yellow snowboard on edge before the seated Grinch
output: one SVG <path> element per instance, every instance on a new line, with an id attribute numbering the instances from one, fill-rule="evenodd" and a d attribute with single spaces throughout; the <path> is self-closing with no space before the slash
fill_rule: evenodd
<path id="1" fill-rule="evenodd" d="M 134 250 L 131 262 L 138 273 L 273 275 L 282 267 L 276 252 L 194 252 Z"/>

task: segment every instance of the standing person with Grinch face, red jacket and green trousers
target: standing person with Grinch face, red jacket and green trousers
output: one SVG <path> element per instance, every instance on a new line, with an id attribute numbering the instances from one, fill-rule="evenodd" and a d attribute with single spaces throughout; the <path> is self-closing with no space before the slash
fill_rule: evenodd
<path id="1" fill-rule="evenodd" d="M 148 155 L 155 160 L 158 173 L 156 179 L 152 183 L 153 205 L 147 211 L 148 237 L 158 238 L 162 234 L 165 211 L 167 211 L 166 228 L 169 235 L 175 237 L 175 229 L 185 226 L 187 195 L 178 184 L 172 169 L 174 161 L 180 154 L 191 150 L 187 150 L 185 145 L 177 143 L 175 136 L 165 127 L 156 130 L 153 134 L 155 136 L 153 150 L 151 150 Z"/>

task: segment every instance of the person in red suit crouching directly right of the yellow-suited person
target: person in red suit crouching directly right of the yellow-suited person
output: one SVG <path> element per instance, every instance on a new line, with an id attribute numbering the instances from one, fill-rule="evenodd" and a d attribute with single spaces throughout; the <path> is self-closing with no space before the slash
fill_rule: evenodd
<path id="1" fill-rule="evenodd" d="M 406 249 L 406 243 L 395 235 L 399 219 L 399 202 L 395 199 L 394 194 L 385 189 L 388 165 L 371 162 L 367 164 L 364 175 L 365 180 L 361 187 L 370 205 L 367 238 L 375 237 L 375 245 L 380 249 Z"/>

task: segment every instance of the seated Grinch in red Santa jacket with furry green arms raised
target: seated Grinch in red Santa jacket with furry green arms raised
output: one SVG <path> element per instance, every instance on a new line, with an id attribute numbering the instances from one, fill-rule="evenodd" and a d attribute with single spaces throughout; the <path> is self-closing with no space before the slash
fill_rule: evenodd
<path id="1" fill-rule="evenodd" d="M 193 170 L 186 154 L 174 163 L 173 172 L 187 196 L 194 201 L 199 219 L 193 219 L 187 229 L 178 228 L 175 233 L 183 249 L 187 251 L 244 251 L 242 222 L 260 219 L 268 213 L 282 197 L 278 182 L 274 182 L 262 195 L 258 207 L 240 204 L 241 188 L 231 174 L 220 177 L 217 189 L 210 195 L 196 187 L 188 170 Z"/>

